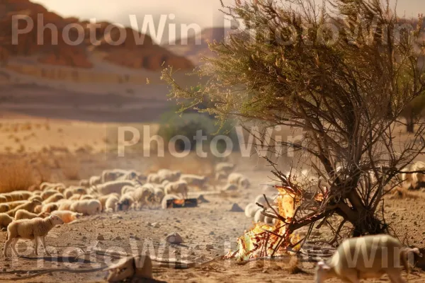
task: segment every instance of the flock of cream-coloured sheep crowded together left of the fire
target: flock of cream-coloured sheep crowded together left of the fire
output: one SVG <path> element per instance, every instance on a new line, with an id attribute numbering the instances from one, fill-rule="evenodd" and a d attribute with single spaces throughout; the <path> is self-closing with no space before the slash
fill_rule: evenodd
<path id="1" fill-rule="evenodd" d="M 232 173 L 232 163 L 218 163 L 215 167 L 217 181 L 227 180 L 223 190 L 247 188 L 250 183 L 244 175 Z M 84 215 L 117 212 L 161 205 L 166 201 L 188 197 L 189 188 L 205 190 L 208 177 L 182 174 L 180 171 L 161 169 L 143 175 L 122 169 L 105 170 L 79 185 L 42 183 L 38 190 L 15 191 L 0 194 L 0 229 L 7 229 L 8 246 L 16 253 L 18 238 L 32 239 L 35 247 L 38 238 L 45 247 L 45 236 L 53 226 L 66 224 Z M 37 253 L 37 250 L 35 250 Z"/>

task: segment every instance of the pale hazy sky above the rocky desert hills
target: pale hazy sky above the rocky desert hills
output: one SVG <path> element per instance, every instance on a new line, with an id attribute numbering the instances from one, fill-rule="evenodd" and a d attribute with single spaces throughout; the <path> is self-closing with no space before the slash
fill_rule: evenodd
<path id="1" fill-rule="evenodd" d="M 181 23 L 187 25 L 195 23 L 201 28 L 222 26 L 225 22 L 219 0 L 32 0 L 59 13 L 61 16 L 77 16 L 78 18 L 96 18 L 96 21 L 109 21 L 129 25 L 129 15 L 137 17 L 141 27 L 144 17 L 152 15 L 154 23 L 158 23 L 159 15 L 174 13 L 173 21 L 167 19 L 166 25 L 176 23 L 177 29 Z M 244 1 L 244 0 L 242 0 Z M 320 3 L 321 0 L 317 0 Z M 381 0 L 384 1 L 384 0 Z M 395 0 L 390 0 L 395 3 Z M 223 0 L 225 4 L 232 4 L 234 0 Z M 419 11 L 425 13 L 425 0 L 399 0 L 397 11 L 401 16 L 404 11 L 407 17 L 417 16 Z M 168 33 L 165 32 L 168 37 Z M 179 34 L 179 32 L 178 32 Z M 172 37 L 172 35 L 171 35 Z"/>

